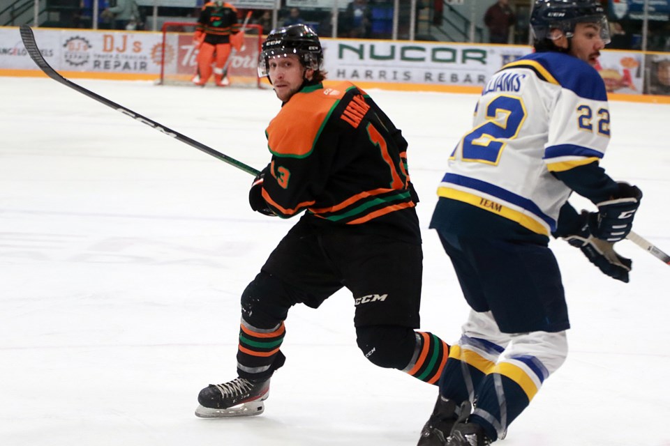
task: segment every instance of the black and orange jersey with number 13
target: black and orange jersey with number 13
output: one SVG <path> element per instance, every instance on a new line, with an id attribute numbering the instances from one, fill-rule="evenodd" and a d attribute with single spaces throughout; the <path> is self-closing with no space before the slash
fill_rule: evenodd
<path id="1" fill-rule="evenodd" d="M 272 154 L 262 196 L 280 217 L 420 240 L 407 141 L 350 82 L 306 86 L 266 130 Z M 402 234 L 405 234 L 403 236 Z"/>

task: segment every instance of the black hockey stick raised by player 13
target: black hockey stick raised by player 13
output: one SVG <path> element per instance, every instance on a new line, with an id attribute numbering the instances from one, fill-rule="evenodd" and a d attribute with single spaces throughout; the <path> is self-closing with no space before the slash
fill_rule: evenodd
<path id="1" fill-rule="evenodd" d="M 33 33 L 33 30 L 30 28 L 28 25 L 21 25 L 20 28 L 20 33 L 21 33 L 21 39 L 23 40 L 23 45 L 26 47 L 28 54 L 31 59 L 37 64 L 37 66 L 42 70 L 45 75 L 48 77 L 51 77 L 54 79 L 54 81 L 59 82 L 60 84 L 63 84 L 64 86 L 70 87 L 70 89 L 76 90 L 84 95 L 87 95 L 89 98 L 95 99 L 98 102 L 102 102 L 104 105 L 107 105 L 107 107 L 112 107 L 112 109 L 117 110 L 118 112 L 121 112 L 125 115 L 130 116 L 131 118 L 135 119 L 136 121 L 140 121 L 143 124 L 149 125 L 151 128 L 155 128 L 159 132 L 163 134 L 167 134 L 169 137 L 173 137 L 174 139 L 177 139 L 178 141 L 184 142 L 188 144 L 191 147 L 197 148 L 199 151 L 203 151 L 204 153 L 207 153 L 208 155 L 211 155 L 218 160 L 221 160 L 223 162 L 227 162 L 228 164 L 237 167 L 237 169 L 243 170 L 248 174 L 251 174 L 253 176 L 258 175 L 260 172 L 253 167 L 247 166 L 243 162 L 239 162 L 237 160 L 234 160 L 233 158 L 223 155 L 223 153 L 215 151 L 213 148 L 209 146 L 205 146 L 204 144 L 195 141 L 195 139 L 191 139 L 187 137 L 184 134 L 181 134 L 175 130 L 172 130 L 171 128 L 165 127 L 165 125 L 159 124 L 156 121 L 153 121 L 146 116 L 142 116 L 139 113 L 135 113 L 132 110 L 126 109 L 126 107 L 122 107 L 121 105 L 117 104 L 116 102 L 112 102 L 111 100 L 107 98 L 103 98 L 101 95 L 98 95 L 94 93 L 93 91 L 84 89 L 84 87 L 75 84 L 74 82 L 68 81 L 65 77 L 61 76 L 58 74 L 56 70 L 54 70 L 48 63 L 47 61 L 44 60 L 44 57 L 40 53 L 40 49 L 37 47 L 37 43 L 35 42 L 35 35 Z"/>

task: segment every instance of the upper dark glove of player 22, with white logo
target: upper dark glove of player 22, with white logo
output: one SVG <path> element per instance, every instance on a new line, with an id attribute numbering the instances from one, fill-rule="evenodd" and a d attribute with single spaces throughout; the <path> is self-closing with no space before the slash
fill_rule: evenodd
<path id="1" fill-rule="evenodd" d="M 642 191 L 638 187 L 628 183 L 618 185 L 618 196 L 598 203 L 598 212 L 588 215 L 591 235 L 612 243 L 623 240 L 630 233 L 635 211 L 642 198 Z"/>

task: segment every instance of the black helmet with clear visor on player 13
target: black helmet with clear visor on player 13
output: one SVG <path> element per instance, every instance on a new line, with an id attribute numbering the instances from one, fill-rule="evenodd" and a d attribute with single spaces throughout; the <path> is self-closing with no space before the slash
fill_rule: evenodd
<path id="1" fill-rule="evenodd" d="M 263 42 L 258 55 L 258 76 L 269 73 L 269 60 L 295 54 L 305 68 L 319 71 L 323 68 L 323 49 L 319 36 L 304 24 L 273 29 Z"/>

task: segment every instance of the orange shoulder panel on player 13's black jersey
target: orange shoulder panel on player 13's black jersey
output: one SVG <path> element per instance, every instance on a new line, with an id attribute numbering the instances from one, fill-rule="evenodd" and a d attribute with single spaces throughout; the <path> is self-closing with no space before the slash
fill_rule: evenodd
<path id="1" fill-rule="evenodd" d="M 293 95 L 267 127 L 270 152 L 278 157 L 308 156 L 338 102 L 352 88 L 356 87 L 350 82 L 341 82 L 329 89 L 307 87 Z"/>

